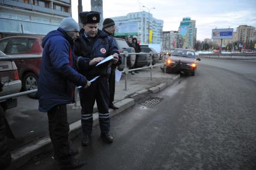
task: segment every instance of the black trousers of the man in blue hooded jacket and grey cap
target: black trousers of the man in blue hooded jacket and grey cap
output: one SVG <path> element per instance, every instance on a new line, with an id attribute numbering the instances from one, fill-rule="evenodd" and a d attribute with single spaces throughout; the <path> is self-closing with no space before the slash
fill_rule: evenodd
<path id="1" fill-rule="evenodd" d="M 67 122 L 67 105 L 54 106 L 47 112 L 50 139 L 52 140 L 55 159 L 70 156 L 69 123 Z"/>

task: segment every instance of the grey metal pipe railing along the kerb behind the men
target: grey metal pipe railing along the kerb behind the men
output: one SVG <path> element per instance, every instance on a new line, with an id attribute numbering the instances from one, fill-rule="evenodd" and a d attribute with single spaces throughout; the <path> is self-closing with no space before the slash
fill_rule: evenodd
<path id="1" fill-rule="evenodd" d="M 140 67 L 140 68 L 133 68 L 133 69 L 129 69 L 127 68 L 127 56 L 129 55 L 150 55 L 150 65 L 147 66 L 147 67 Z M 159 54 L 159 55 L 163 55 L 164 58 L 163 58 L 163 63 L 162 64 L 155 64 L 153 65 L 152 64 L 152 56 L 153 54 Z M 124 90 L 127 90 L 127 74 L 129 74 L 129 72 L 131 71 L 136 71 L 136 70 L 144 70 L 144 69 L 147 69 L 147 68 L 150 68 L 150 80 L 152 80 L 152 71 L 153 71 L 153 67 L 159 67 L 161 65 L 165 65 L 165 57 L 166 57 L 166 53 L 153 53 L 153 52 L 150 52 L 150 53 L 128 53 L 127 51 L 125 51 L 124 53 L 120 53 L 120 55 L 124 55 L 125 58 L 124 58 L 124 70 L 121 71 L 122 73 L 124 73 L 125 75 L 125 87 L 124 87 Z M 0 57 L 0 61 L 4 61 L 4 60 L 14 60 L 14 59 L 32 59 L 32 58 L 41 58 L 42 56 L 41 55 L 19 55 L 19 56 L 1 56 Z M 165 67 L 165 71 L 166 73 L 166 67 Z M 19 96 L 24 96 L 26 94 L 31 94 L 31 93 L 36 93 L 37 92 L 37 89 L 35 90 L 30 90 L 30 91 L 24 91 L 24 92 L 20 92 L 20 93 L 16 93 L 16 94 L 10 94 L 8 96 L 2 96 L 0 97 L 0 100 L 7 100 L 7 99 L 11 99 L 13 97 L 19 97 Z M 76 107 L 76 101 L 77 101 L 77 94 L 78 91 L 76 90 L 75 92 L 75 106 L 74 108 L 77 108 Z"/>

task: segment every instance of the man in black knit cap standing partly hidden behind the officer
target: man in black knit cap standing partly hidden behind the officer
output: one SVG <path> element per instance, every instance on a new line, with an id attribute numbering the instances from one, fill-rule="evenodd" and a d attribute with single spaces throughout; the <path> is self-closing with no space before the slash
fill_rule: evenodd
<path id="1" fill-rule="evenodd" d="M 114 37 L 115 33 L 115 22 L 111 18 L 106 18 L 103 21 L 102 31 L 106 32 L 111 37 Z M 120 58 L 121 60 L 121 58 Z M 121 64 L 119 62 L 118 64 Z M 115 97 L 115 69 L 117 68 L 117 64 L 111 65 L 111 73 L 109 74 L 109 108 L 111 109 L 119 109 L 114 105 L 114 97 Z"/>

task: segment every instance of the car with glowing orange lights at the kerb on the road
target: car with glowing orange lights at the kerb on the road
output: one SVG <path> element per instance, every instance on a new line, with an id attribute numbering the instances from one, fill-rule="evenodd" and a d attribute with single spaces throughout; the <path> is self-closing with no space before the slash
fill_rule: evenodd
<path id="1" fill-rule="evenodd" d="M 166 72 L 177 73 L 178 71 L 183 71 L 195 76 L 197 61 L 201 61 L 201 59 L 196 58 L 194 50 L 175 49 L 171 56 L 166 58 Z M 163 65 L 160 68 L 164 71 Z"/>

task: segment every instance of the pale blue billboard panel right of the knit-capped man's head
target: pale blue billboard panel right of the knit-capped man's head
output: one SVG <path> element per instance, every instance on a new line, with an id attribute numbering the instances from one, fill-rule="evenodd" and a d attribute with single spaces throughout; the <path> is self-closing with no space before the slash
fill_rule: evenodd
<path id="1" fill-rule="evenodd" d="M 116 22 L 115 36 L 138 35 L 138 22 Z"/>

